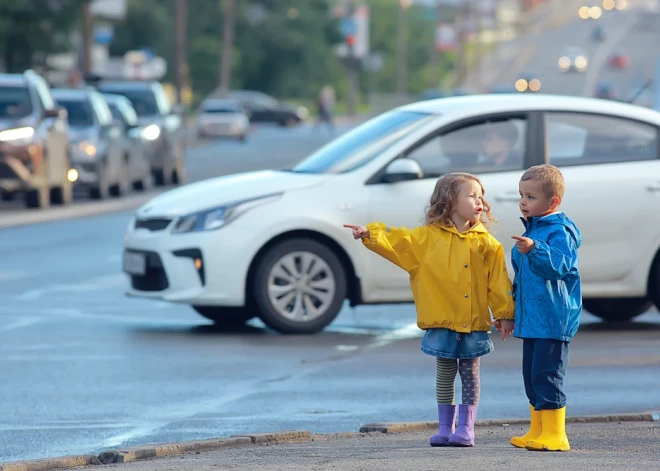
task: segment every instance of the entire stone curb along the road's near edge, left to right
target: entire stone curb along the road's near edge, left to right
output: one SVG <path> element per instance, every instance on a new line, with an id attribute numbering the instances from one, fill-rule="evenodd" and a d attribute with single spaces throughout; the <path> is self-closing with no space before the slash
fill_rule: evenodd
<path id="1" fill-rule="evenodd" d="M 660 412 L 648 412 L 643 414 L 619 414 L 619 415 L 595 415 L 583 417 L 567 417 L 568 423 L 602 423 L 602 422 L 658 422 Z M 527 419 L 485 419 L 478 420 L 475 425 L 487 426 L 509 426 L 529 423 Z M 383 422 L 366 424 L 360 427 L 359 433 L 405 433 L 416 432 L 437 428 L 437 422 Z M 63 456 L 59 458 L 44 458 L 29 461 L 15 461 L 11 463 L 0 463 L 0 471 L 48 471 L 53 469 L 72 469 L 81 466 L 103 466 L 114 463 L 130 463 L 159 458 L 172 455 L 183 455 L 186 453 L 197 453 L 202 451 L 219 450 L 228 447 L 247 446 L 264 443 L 294 443 L 313 441 L 314 436 L 338 437 L 354 436 L 356 433 L 328 433 L 312 434 L 307 430 L 287 430 L 272 433 L 254 433 L 245 435 L 234 435 L 229 438 L 212 438 L 208 440 L 195 440 L 178 443 L 162 443 L 156 445 L 144 445 L 116 450 L 104 451 L 98 456 L 80 455 Z"/>

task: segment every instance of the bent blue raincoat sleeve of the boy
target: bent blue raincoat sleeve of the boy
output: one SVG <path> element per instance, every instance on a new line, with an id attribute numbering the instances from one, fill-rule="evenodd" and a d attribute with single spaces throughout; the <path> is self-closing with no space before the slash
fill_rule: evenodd
<path id="1" fill-rule="evenodd" d="M 577 266 L 577 243 L 568 231 L 553 231 L 547 242 L 534 240 L 527 259 L 536 276 L 550 281 L 561 280 Z"/>

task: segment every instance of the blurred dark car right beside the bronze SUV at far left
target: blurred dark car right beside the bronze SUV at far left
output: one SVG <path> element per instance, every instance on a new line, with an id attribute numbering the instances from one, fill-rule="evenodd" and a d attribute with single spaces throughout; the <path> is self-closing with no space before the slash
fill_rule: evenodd
<path id="1" fill-rule="evenodd" d="M 76 186 L 95 199 L 130 191 L 129 162 L 122 134 L 103 96 L 93 88 L 55 89 L 53 97 L 69 119 L 71 163 L 78 172 Z"/>

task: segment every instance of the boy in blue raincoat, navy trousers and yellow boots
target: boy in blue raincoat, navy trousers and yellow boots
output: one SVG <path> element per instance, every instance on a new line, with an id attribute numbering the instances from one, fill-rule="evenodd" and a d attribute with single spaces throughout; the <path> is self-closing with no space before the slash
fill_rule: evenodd
<path id="1" fill-rule="evenodd" d="M 530 404 L 529 431 L 511 444 L 528 450 L 567 451 L 564 374 L 568 345 L 582 313 L 578 270 L 579 229 L 559 211 L 564 177 L 557 167 L 537 165 L 520 179 L 525 226 L 513 236 L 513 335 L 523 339 L 523 380 Z"/>

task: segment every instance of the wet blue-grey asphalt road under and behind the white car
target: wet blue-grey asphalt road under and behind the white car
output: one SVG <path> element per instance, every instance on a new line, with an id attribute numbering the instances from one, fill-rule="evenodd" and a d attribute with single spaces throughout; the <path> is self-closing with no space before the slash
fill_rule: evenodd
<path id="1" fill-rule="evenodd" d="M 571 45 L 584 34 L 572 28 L 556 39 Z M 555 47 L 552 38 L 539 44 Z M 632 80 L 648 63 L 631 58 L 618 79 Z M 544 73 L 547 86 L 575 79 L 562 90 L 584 88 L 583 75 Z M 262 127 L 247 144 L 195 146 L 188 151 L 189 181 L 286 167 L 332 137 L 313 127 Z M 16 212 L 0 211 L 0 218 Z M 434 418 L 433 359 L 419 351 L 411 305 L 345 308 L 310 337 L 273 334 L 256 321 L 219 332 L 186 306 L 123 296 L 120 255 L 129 217 L 123 211 L 2 230 L 0 462 Z M 658 409 L 659 332 L 655 311 L 618 329 L 585 314 L 567 377 L 570 413 Z M 483 362 L 480 416 L 524 417 L 520 342 L 496 341 L 496 348 Z"/>

